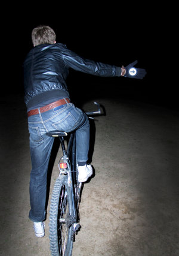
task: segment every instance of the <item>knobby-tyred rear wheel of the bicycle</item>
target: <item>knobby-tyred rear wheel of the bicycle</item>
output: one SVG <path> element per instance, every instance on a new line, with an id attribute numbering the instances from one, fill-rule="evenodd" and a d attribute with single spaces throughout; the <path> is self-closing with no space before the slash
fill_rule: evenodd
<path id="1" fill-rule="evenodd" d="M 72 216 L 72 194 L 67 176 L 59 176 L 55 182 L 50 205 L 50 250 L 53 256 L 70 256 L 73 249 L 73 227 L 67 225 Z"/>

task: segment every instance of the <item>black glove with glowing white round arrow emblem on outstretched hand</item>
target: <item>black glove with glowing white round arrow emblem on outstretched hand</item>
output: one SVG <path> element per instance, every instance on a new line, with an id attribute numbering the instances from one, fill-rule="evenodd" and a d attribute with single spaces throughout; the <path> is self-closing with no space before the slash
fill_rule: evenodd
<path id="1" fill-rule="evenodd" d="M 134 68 L 134 65 L 137 64 L 137 62 L 138 61 L 134 61 L 125 67 L 126 73 L 124 77 L 143 79 L 144 76 L 146 76 L 146 70 L 143 68 Z"/>

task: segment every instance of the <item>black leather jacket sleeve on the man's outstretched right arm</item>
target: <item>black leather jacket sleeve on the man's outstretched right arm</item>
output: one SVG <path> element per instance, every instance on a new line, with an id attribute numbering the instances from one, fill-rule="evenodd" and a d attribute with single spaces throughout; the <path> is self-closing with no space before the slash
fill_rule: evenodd
<path id="1" fill-rule="evenodd" d="M 92 74 L 94 76 L 121 76 L 120 67 L 84 59 L 70 50 L 63 52 L 63 61 L 69 68 L 73 68 L 73 70 Z"/>

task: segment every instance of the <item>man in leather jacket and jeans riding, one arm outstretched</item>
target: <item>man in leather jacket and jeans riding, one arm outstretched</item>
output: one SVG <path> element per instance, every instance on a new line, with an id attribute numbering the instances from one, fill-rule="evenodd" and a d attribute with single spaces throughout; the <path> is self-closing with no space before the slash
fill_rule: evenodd
<path id="1" fill-rule="evenodd" d="M 143 79 L 146 71 L 116 67 L 84 59 L 64 44 L 56 43 L 56 35 L 49 26 L 38 26 L 32 31 L 33 49 L 24 61 L 24 101 L 27 106 L 30 133 L 30 212 L 35 234 L 44 236 L 45 203 L 47 193 L 47 170 L 54 139 L 49 131 L 70 132 L 76 130 L 76 155 L 78 179 L 85 182 L 92 175 L 87 164 L 90 141 L 90 124 L 82 110 L 70 102 L 66 85 L 69 68 L 101 77 L 125 76 Z"/>

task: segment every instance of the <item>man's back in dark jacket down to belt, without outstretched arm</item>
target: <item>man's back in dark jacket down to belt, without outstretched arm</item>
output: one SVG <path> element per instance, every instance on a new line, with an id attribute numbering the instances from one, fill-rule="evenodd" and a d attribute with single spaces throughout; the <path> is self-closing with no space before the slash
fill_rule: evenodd
<path id="1" fill-rule="evenodd" d="M 69 98 L 63 61 L 63 44 L 41 44 L 24 61 L 24 101 L 27 111 L 61 98 Z M 44 94 L 45 93 L 45 94 Z"/>

